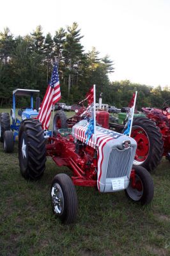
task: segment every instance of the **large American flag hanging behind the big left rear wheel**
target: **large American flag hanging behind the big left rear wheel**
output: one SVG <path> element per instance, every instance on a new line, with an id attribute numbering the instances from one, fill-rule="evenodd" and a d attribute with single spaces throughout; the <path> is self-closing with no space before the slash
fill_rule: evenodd
<path id="1" fill-rule="evenodd" d="M 58 66 L 54 65 L 50 83 L 43 97 L 42 106 L 40 113 L 37 118 L 43 125 L 43 129 L 48 129 L 50 125 L 50 115 L 52 105 L 54 105 L 58 100 L 61 99 L 60 85 L 59 85 L 59 76 L 58 76 Z"/>

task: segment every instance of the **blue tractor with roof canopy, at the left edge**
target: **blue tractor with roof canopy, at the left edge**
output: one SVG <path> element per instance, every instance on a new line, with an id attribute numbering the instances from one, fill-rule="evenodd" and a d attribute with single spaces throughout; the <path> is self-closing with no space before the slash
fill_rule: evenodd
<path id="1" fill-rule="evenodd" d="M 19 134 L 20 123 L 27 118 L 36 118 L 38 116 L 38 108 L 40 108 L 39 90 L 16 89 L 13 91 L 13 107 L 8 113 L 0 113 L 0 141 L 4 143 L 4 151 L 7 153 L 13 152 L 16 136 Z M 36 97 L 36 108 L 33 107 L 33 96 Z M 18 116 L 15 115 L 15 96 L 29 96 L 30 106 L 22 107 L 18 111 Z M 11 116 L 11 122 L 10 122 Z M 11 124 L 10 124 L 11 123 Z"/>

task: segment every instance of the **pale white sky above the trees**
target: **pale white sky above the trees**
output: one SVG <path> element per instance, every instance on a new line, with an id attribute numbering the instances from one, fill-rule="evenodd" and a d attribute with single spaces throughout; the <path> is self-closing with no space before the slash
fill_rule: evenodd
<path id="1" fill-rule="evenodd" d="M 0 0 L 0 31 L 44 35 L 79 24 L 86 52 L 96 47 L 114 62 L 111 81 L 170 89 L 170 0 Z"/>

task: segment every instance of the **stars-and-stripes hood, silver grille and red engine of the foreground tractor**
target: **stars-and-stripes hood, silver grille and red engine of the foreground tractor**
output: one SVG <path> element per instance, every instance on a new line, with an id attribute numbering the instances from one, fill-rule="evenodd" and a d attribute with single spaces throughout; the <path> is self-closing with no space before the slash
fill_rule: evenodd
<path id="1" fill-rule="evenodd" d="M 82 159 L 81 168 L 85 170 L 86 177 L 97 178 L 100 192 L 126 189 L 137 147 L 136 141 L 118 132 L 97 127 L 96 138 L 93 134 L 87 142 L 87 125 L 88 122 L 82 120 L 72 127 L 75 152 Z"/>

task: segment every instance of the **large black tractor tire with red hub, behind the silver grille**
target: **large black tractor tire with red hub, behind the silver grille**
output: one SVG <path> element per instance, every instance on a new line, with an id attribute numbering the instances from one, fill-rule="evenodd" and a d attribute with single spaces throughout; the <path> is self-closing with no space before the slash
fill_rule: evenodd
<path id="1" fill-rule="evenodd" d="M 164 141 L 158 127 L 148 118 L 134 118 L 131 137 L 137 142 L 134 164 L 143 166 L 148 172 L 153 171 L 164 152 Z"/>

